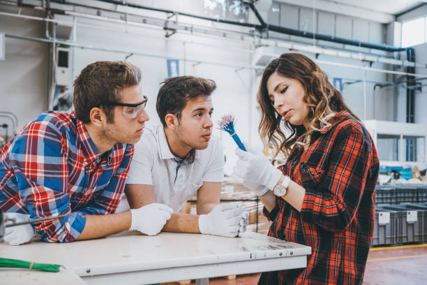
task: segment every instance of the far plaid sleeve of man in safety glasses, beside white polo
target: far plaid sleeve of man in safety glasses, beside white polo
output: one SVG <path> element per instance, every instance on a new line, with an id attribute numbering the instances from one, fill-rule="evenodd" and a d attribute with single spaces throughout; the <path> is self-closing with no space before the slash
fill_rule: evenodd
<path id="1" fill-rule="evenodd" d="M 116 162 L 120 163 L 120 166 L 107 187 L 96 199 L 92 199 L 89 205 L 76 212 L 80 214 L 112 214 L 116 211 L 128 177 L 130 161 L 133 157 L 133 145 L 127 145 L 122 151 L 124 151 L 123 159 Z"/>

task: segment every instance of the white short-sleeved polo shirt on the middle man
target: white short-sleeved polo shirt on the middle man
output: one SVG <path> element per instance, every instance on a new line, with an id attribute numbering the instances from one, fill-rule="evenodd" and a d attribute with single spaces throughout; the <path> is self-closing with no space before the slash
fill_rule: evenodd
<path id="1" fill-rule="evenodd" d="M 126 184 L 153 185 L 156 202 L 179 211 L 189 198 L 195 196 L 203 182 L 224 180 L 224 152 L 216 136 L 211 136 L 206 149 L 195 150 L 193 163 L 177 170 L 175 159 L 167 145 L 163 126 L 145 128 L 140 141 L 135 144 Z M 116 212 L 128 209 L 123 195 Z"/>

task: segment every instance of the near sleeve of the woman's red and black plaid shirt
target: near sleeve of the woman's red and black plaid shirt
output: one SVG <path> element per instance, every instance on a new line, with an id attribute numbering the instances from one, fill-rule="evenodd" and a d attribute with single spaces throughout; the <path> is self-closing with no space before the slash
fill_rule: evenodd
<path id="1" fill-rule="evenodd" d="M 365 189 L 371 154 L 362 131 L 347 124 L 337 132 L 327 173 L 316 173 L 301 163 L 301 182 L 306 189 L 301 208 L 303 221 L 317 224 L 326 231 L 347 228 L 359 207 L 361 189 Z M 322 189 L 317 189 L 322 175 Z"/>

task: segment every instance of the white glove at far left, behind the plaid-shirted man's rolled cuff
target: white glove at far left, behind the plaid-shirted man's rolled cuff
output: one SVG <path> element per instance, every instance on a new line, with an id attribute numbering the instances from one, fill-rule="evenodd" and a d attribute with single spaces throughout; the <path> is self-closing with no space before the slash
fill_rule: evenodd
<path id="1" fill-rule="evenodd" d="M 20 213 L 4 213 L 3 217 L 5 219 L 13 219 L 15 223 L 22 223 L 24 221 L 29 221 L 28 214 Z M 6 221 L 5 226 L 8 224 L 15 224 L 12 221 Z M 25 242 L 29 242 L 33 236 L 36 235 L 33 226 L 31 224 L 25 224 L 21 226 L 8 226 L 5 228 L 5 234 L 3 240 L 8 242 L 10 245 L 20 245 Z"/>

